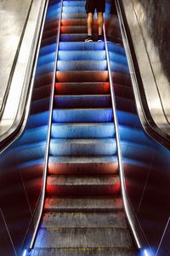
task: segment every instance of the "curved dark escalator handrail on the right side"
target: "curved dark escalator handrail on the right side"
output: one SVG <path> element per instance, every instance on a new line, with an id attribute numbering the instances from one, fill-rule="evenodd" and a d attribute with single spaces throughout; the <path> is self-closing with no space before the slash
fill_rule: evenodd
<path id="1" fill-rule="evenodd" d="M 170 150 L 170 136 L 166 133 L 166 131 L 162 131 L 161 128 L 156 125 L 156 122 L 151 116 L 150 109 L 148 108 L 144 93 L 143 82 L 139 73 L 139 67 L 133 49 L 132 38 L 125 24 L 126 21 L 122 14 L 121 3 L 118 0 L 116 0 L 116 11 L 121 27 L 122 40 L 127 55 L 127 62 L 130 70 L 130 76 L 132 79 L 133 93 L 135 101 L 137 103 L 139 119 L 144 127 L 144 131 L 149 134 L 150 137 L 155 139 L 157 143 L 160 143 L 163 147 Z"/>

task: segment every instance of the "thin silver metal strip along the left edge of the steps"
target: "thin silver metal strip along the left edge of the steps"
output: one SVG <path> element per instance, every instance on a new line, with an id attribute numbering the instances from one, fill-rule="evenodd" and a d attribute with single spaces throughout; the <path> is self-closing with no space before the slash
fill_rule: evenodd
<path id="1" fill-rule="evenodd" d="M 49 0 L 48 0 L 49 1 Z M 45 194 L 46 194 L 46 184 L 47 184 L 47 176 L 48 176 L 48 154 L 49 154 L 49 145 L 50 145 L 50 137 L 51 137 L 51 126 L 52 126 L 52 118 L 53 118 L 53 107 L 54 107 L 54 88 L 55 88 L 55 79 L 56 79 L 56 70 L 57 70 L 57 61 L 58 61 L 58 52 L 59 52 L 59 36 L 60 36 L 60 26 L 61 26 L 61 16 L 62 16 L 62 9 L 63 9 L 63 0 L 61 0 L 61 7 L 60 7 L 60 14 L 59 14 L 59 26 L 58 26 L 58 33 L 56 37 L 56 52 L 55 52 L 55 61 L 54 61 L 54 77 L 52 83 L 52 90 L 50 96 L 50 107 L 49 107 L 49 118 L 48 118 L 48 139 L 47 139 L 47 147 L 46 147 L 46 154 L 45 154 L 45 163 L 43 168 L 43 177 L 42 177 L 42 194 L 41 194 L 41 206 L 38 212 L 38 218 L 36 227 L 31 238 L 31 243 L 28 248 L 28 252 L 30 253 L 33 249 L 36 238 L 37 238 L 37 231 L 42 219 L 42 212 L 45 202 Z"/>

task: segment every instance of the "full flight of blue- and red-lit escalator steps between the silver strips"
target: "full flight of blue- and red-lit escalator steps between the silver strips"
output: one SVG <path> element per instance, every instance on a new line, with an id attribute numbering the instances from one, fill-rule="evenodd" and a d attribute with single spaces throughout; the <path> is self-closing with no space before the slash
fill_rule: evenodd
<path id="1" fill-rule="evenodd" d="M 122 206 L 105 43 L 84 43 L 84 4 L 63 1 L 46 198 L 31 255 L 137 255 Z"/>

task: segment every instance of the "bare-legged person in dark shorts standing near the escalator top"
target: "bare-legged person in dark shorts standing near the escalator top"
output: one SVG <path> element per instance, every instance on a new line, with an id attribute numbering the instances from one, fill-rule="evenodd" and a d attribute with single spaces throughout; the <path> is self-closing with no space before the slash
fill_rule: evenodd
<path id="1" fill-rule="evenodd" d="M 103 24 L 104 17 L 103 13 L 105 13 L 105 0 L 86 0 L 85 5 L 86 13 L 88 14 L 88 36 L 85 42 L 93 42 L 93 25 L 94 25 L 94 11 L 96 9 L 98 15 L 98 42 L 104 40 L 103 38 Z"/>

